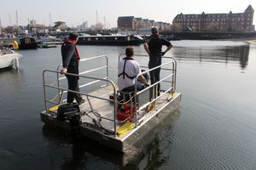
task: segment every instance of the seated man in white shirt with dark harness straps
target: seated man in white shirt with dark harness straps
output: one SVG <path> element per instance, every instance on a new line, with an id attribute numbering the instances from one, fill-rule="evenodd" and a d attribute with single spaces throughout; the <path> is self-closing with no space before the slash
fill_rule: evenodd
<path id="1" fill-rule="evenodd" d="M 126 57 L 119 61 L 119 72 L 118 72 L 118 87 L 120 91 L 124 92 L 133 92 L 136 77 L 140 74 L 141 68 L 136 60 L 132 59 L 133 57 L 133 48 L 128 47 L 125 49 Z M 147 80 L 143 75 L 138 77 L 137 81 L 137 91 L 142 90 L 145 86 L 149 86 Z"/>

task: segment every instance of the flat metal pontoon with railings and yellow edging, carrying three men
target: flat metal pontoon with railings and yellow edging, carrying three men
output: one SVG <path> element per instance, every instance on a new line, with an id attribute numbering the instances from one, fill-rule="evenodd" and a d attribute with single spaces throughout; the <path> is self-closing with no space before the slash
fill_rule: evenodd
<path id="1" fill-rule="evenodd" d="M 134 95 L 132 95 L 133 98 L 129 101 L 124 101 L 127 102 L 128 105 L 137 104 L 137 110 L 134 111 L 134 116 L 131 115 L 126 120 L 118 120 L 117 114 L 119 113 L 117 111 L 117 105 L 120 105 L 120 102 L 118 101 L 117 96 L 121 92 L 119 92 L 116 85 L 108 79 L 108 57 L 102 55 L 89 59 L 82 59 L 81 61 L 102 58 L 107 60 L 106 65 L 91 69 L 90 71 L 84 71 L 79 75 L 70 74 L 79 76 L 80 80 L 82 78 L 90 80 L 90 82 L 80 86 L 79 94 L 83 95 L 85 102 L 79 106 L 80 112 L 82 112 L 82 123 L 80 124 L 79 130 L 80 134 L 84 137 L 94 139 L 98 143 L 104 144 L 115 150 L 125 151 L 135 144 L 138 139 L 149 133 L 158 121 L 177 110 L 181 100 L 181 94 L 175 92 L 176 60 L 174 58 L 166 57 L 167 62 L 160 66 L 162 67 L 162 70 L 169 71 L 170 73 L 166 74 L 160 82 L 156 82 L 140 92 L 136 91 Z M 107 70 L 107 77 L 99 78 L 87 76 L 93 71 L 102 69 Z M 41 112 L 41 120 L 46 124 L 70 130 L 70 123 L 68 121 L 60 121 L 56 117 L 58 106 L 66 102 L 66 99 L 63 99 L 63 96 L 68 91 L 67 88 L 61 87 L 60 81 L 65 79 L 65 77 L 59 77 L 60 71 L 58 70 L 59 69 L 57 69 L 57 71 L 44 71 L 45 111 Z M 151 70 L 146 72 L 149 71 Z M 48 74 L 46 73 L 57 75 L 57 85 L 47 83 L 46 75 Z M 104 85 L 93 92 L 85 93 L 86 90 L 83 90 L 84 88 L 88 88 L 97 82 L 104 82 Z M 162 90 L 160 96 L 151 101 L 149 99 L 149 90 L 150 88 L 156 87 L 158 83 L 161 83 L 161 86 L 163 86 L 162 84 L 167 83 L 169 87 L 166 90 Z M 49 88 L 53 88 L 58 92 L 55 99 L 48 99 Z M 110 96 L 113 96 L 113 99 L 109 98 Z M 146 112 L 146 108 L 152 102 L 155 102 L 154 109 Z"/>

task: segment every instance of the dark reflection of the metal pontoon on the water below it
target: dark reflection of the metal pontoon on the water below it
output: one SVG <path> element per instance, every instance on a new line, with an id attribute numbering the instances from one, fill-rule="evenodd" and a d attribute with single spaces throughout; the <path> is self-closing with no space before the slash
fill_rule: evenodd
<path id="1" fill-rule="evenodd" d="M 69 133 L 60 128 L 44 125 L 42 131 L 49 145 L 71 148 L 70 157 L 62 159 L 59 163 L 63 170 L 103 169 L 106 161 L 108 161 L 107 169 L 150 169 L 161 167 L 169 160 L 172 143 L 175 142 L 173 141 L 172 126 L 177 121 L 179 114 L 179 111 L 175 111 L 165 120 L 158 122 L 152 132 L 140 139 L 137 144 L 129 146 L 125 153 L 111 150 L 90 139 L 83 138 L 74 142 L 69 138 Z M 101 157 L 101 159 L 96 162 L 92 156 Z M 55 156 L 52 161 L 57 161 L 61 157 Z"/>

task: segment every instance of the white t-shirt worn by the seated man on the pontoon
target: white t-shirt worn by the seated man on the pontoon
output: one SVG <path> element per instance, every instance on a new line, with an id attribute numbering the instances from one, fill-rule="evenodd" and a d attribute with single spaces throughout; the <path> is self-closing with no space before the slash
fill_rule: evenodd
<path id="1" fill-rule="evenodd" d="M 120 60 L 119 61 L 119 74 L 121 74 L 123 72 L 124 65 L 125 65 L 125 59 Z M 122 90 L 124 88 L 128 88 L 128 87 L 134 85 L 137 75 L 141 72 L 142 71 L 141 71 L 140 65 L 137 63 L 136 60 L 127 59 L 126 65 L 125 65 L 125 73 L 129 77 L 135 77 L 135 78 L 131 79 L 131 78 L 125 76 L 125 79 L 124 79 L 123 75 L 119 76 L 118 77 L 119 90 Z"/>

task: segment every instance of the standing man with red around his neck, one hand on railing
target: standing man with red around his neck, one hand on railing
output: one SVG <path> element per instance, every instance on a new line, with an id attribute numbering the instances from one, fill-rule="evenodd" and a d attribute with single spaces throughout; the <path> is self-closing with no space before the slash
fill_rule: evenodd
<path id="1" fill-rule="evenodd" d="M 80 54 L 76 46 L 76 42 L 79 39 L 79 34 L 77 32 L 72 32 L 69 34 L 67 40 L 65 40 L 61 45 L 61 55 L 62 55 L 62 69 L 61 74 L 72 73 L 79 74 L 79 60 Z M 79 77 L 73 77 L 66 75 L 68 82 L 68 89 L 79 92 Z M 78 104 L 84 103 L 80 94 L 67 92 L 67 103 L 73 103 L 73 99 L 76 99 Z"/>

